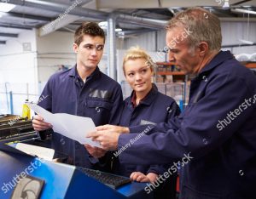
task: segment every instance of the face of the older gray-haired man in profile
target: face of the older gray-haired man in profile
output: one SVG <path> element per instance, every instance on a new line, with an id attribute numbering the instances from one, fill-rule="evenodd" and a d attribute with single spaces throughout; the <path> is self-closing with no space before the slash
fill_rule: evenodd
<path id="1" fill-rule="evenodd" d="M 166 32 L 166 45 L 170 48 L 170 61 L 174 62 L 185 74 L 193 74 L 201 66 L 201 57 L 198 48 L 189 48 L 187 38 L 189 35 L 183 34 L 184 31 L 182 26 L 168 30 Z"/>

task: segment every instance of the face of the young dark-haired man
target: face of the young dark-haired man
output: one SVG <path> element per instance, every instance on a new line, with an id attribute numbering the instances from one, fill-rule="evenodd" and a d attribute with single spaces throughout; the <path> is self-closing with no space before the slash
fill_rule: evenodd
<path id="1" fill-rule="evenodd" d="M 79 46 L 76 43 L 73 44 L 73 50 L 77 53 L 77 64 L 90 69 L 96 68 L 102 59 L 103 48 L 104 38 L 84 35 Z"/>

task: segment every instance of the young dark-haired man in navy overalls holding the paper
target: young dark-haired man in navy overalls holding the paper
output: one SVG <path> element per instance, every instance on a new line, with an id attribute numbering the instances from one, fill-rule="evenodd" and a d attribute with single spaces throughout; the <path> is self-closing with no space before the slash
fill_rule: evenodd
<path id="1" fill-rule="evenodd" d="M 49 78 L 41 94 L 47 97 L 38 105 L 52 113 L 91 117 L 96 126 L 108 122 L 117 124 L 117 109 L 123 100 L 121 88 L 97 66 L 102 59 L 104 44 L 104 31 L 96 23 L 79 26 L 73 43 L 76 65 Z M 40 116 L 35 116 L 32 124 L 37 131 L 51 128 Z M 55 151 L 67 155 L 68 162 L 76 166 L 102 169 L 106 163 L 106 151 L 99 148 L 86 145 L 86 150 L 84 145 L 56 133 L 52 133 L 51 142 Z"/>

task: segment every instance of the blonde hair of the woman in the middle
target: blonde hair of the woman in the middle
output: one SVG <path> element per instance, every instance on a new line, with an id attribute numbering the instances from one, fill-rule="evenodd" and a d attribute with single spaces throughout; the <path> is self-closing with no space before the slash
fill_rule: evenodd
<path id="1" fill-rule="evenodd" d="M 137 60 L 137 59 L 145 59 L 145 65 L 149 65 L 151 71 L 154 71 L 154 62 L 149 54 L 146 53 L 146 51 L 143 48 L 140 48 L 139 46 L 131 47 L 129 48 L 126 53 L 123 60 L 123 71 L 125 75 L 125 63 L 128 60 Z"/>

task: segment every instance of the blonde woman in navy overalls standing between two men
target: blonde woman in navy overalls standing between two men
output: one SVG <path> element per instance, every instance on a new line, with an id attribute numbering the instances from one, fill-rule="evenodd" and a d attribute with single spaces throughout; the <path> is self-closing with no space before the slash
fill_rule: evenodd
<path id="1" fill-rule="evenodd" d="M 146 129 L 147 124 L 167 122 L 180 113 L 175 100 L 161 94 L 151 82 L 154 73 L 153 67 L 154 63 L 151 57 L 142 48 L 132 47 L 126 52 L 123 70 L 126 81 L 133 91 L 131 96 L 124 101 L 120 126 L 145 125 Z M 145 156 L 150 156 L 150 154 L 145 154 Z M 152 183 L 167 168 L 169 168 L 167 165 L 124 165 L 118 159 L 114 163 L 115 173 L 130 176 L 131 179 L 138 182 Z M 154 191 L 154 198 L 175 198 L 176 176 L 166 181 L 165 185 L 160 185 L 160 188 Z"/>

